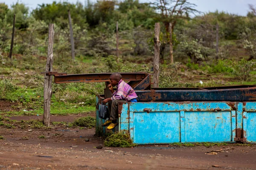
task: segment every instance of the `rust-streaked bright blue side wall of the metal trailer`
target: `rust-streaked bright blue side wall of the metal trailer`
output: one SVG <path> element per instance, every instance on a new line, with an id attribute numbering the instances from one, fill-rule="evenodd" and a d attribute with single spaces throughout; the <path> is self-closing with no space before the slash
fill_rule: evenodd
<path id="1" fill-rule="evenodd" d="M 128 130 L 136 144 L 234 142 L 237 129 L 256 142 L 255 122 L 256 102 L 128 102 L 118 130 Z"/>

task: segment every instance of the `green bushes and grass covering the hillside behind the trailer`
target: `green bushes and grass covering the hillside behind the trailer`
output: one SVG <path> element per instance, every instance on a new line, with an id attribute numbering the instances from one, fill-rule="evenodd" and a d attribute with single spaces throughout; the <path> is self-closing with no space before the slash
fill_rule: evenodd
<path id="1" fill-rule="evenodd" d="M 169 11 L 175 1 L 168 2 Z M 213 11 L 192 18 L 191 13 L 197 12 L 197 7 L 189 0 L 185 4 L 189 8 L 184 6 L 184 11 L 175 11 L 166 17 L 159 13 L 158 0 L 151 5 L 138 0 L 88 1 L 85 6 L 79 2 L 53 2 L 39 4 L 33 10 L 19 2 L 10 8 L 0 3 L 0 101 L 8 105 L 0 115 L 43 114 L 44 75 L 41 72 L 46 64 L 49 23 L 55 24 L 53 71 L 153 73 L 154 23 L 159 22 L 161 88 L 255 85 L 256 14 L 253 10 L 250 9 L 247 16 Z M 70 57 L 67 10 L 73 24 L 74 61 Z M 14 13 L 15 43 L 12 60 L 9 60 Z M 119 57 L 115 50 L 116 21 L 119 23 Z M 173 24 L 173 64 L 169 56 L 169 22 Z M 218 54 L 215 52 L 217 23 Z M 95 96 L 103 94 L 104 88 L 105 83 L 101 82 L 53 84 L 51 114 L 95 111 Z"/>

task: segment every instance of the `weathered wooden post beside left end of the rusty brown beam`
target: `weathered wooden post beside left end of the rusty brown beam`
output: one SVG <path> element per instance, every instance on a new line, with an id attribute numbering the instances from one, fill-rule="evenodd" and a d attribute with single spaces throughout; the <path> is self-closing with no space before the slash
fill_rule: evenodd
<path id="1" fill-rule="evenodd" d="M 48 55 L 46 62 L 46 72 L 52 71 L 53 62 L 53 38 L 54 38 L 54 24 L 49 24 L 48 35 Z M 44 116 L 43 123 L 46 126 L 50 125 L 50 107 L 52 97 L 52 76 L 44 75 Z"/>

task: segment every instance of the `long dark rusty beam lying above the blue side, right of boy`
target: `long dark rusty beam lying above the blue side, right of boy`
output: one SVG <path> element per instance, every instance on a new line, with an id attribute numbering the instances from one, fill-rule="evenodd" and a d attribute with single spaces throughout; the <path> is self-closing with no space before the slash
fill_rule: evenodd
<path id="1" fill-rule="evenodd" d="M 200 90 L 200 89 L 153 89 L 150 91 L 136 91 L 138 101 L 202 101 L 202 102 L 250 102 L 256 101 L 256 87 L 249 88 L 228 88 L 226 89 L 213 89 L 213 90 Z"/>

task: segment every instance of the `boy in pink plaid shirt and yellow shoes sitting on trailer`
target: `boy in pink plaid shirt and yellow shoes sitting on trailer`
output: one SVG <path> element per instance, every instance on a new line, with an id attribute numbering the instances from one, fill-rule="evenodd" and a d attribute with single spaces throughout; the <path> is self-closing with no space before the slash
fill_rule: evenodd
<path id="1" fill-rule="evenodd" d="M 108 130 L 113 129 L 117 125 L 116 119 L 118 118 L 118 102 L 137 102 L 136 98 L 138 97 L 134 89 L 122 80 L 121 74 L 111 74 L 110 81 L 111 84 L 108 85 L 108 88 L 112 93 L 112 97 L 102 101 L 104 105 L 108 103 L 110 118 L 102 125 L 109 125 L 107 127 Z M 117 88 L 116 91 L 113 89 L 115 86 Z"/>

